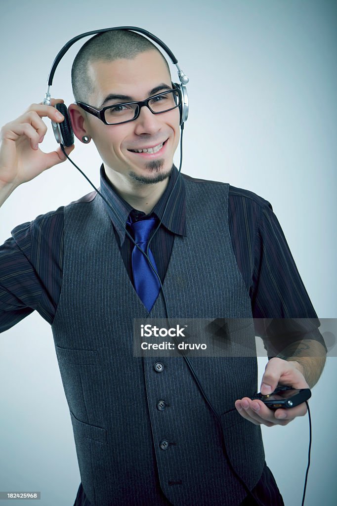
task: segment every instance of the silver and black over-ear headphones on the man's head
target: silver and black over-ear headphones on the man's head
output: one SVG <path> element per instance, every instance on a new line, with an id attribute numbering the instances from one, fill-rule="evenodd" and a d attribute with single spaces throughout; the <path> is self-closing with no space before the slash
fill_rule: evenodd
<path id="1" fill-rule="evenodd" d="M 80 35 L 77 35 L 76 37 L 73 37 L 71 40 L 69 40 L 67 42 L 67 44 L 65 44 L 63 46 L 63 48 L 61 49 L 61 51 L 59 51 L 59 53 L 57 54 L 57 56 L 54 60 L 54 63 L 52 65 L 52 68 L 49 72 L 48 90 L 47 90 L 46 96 L 43 100 L 43 104 L 44 105 L 51 105 L 50 87 L 53 84 L 53 77 L 55 74 L 55 70 L 56 70 L 58 64 L 60 63 L 61 59 L 63 58 L 63 56 L 68 51 L 68 49 L 73 44 L 75 44 L 75 42 L 77 42 L 77 40 L 79 40 L 83 37 L 87 37 L 89 35 L 96 35 L 98 33 L 104 33 L 104 32 L 108 32 L 108 31 L 114 31 L 114 30 L 134 31 L 134 32 L 142 33 L 143 35 L 146 35 L 148 38 L 150 38 L 155 43 L 157 43 L 158 46 L 160 46 L 165 51 L 165 53 L 168 56 L 170 56 L 172 63 L 174 65 L 176 65 L 176 67 L 178 69 L 178 75 L 179 75 L 179 80 L 180 80 L 180 83 L 173 82 L 172 85 L 173 85 L 174 89 L 179 89 L 181 92 L 182 102 L 179 106 L 179 111 L 180 111 L 180 126 L 183 129 L 184 128 L 183 124 L 187 120 L 187 116 L 188 116 L 188 96 L 187 96 L 186 85 L 189 81 L 189 78 L 180 69 L 180 67 L 178 65 L 177 58 L 172 53 L 172 51 L 166 46 L 166 44 L 164 44 L 162 42 L 162 40 L 160 40 L 158 37 L 153 35 L 153 33 L 150 33 L 149 31 L 144 30 L 143 28 L 138 28 L 137 26 L 115 26 L 112 28 L 103 28 L 101 30 L 94 30 L 94 31 L 86 32 L 86 33 L 81 33 Z M 62 121 L 61 123 L 56 123 L 55 121 L 52 121 L 55 139 L 59 144 L 62 144 L 63 146 L 71 146 L 74 143 L 74 133 L 71 128 L 71 121 L 70 121 L 70 116 L 68 113 L 67 106 L 65 104 L 56 104 L 54 107 L 58 111 L 60 111 L 61 114 L 63 114 L 63 116 L 64 116 L 64 121 Z"/>

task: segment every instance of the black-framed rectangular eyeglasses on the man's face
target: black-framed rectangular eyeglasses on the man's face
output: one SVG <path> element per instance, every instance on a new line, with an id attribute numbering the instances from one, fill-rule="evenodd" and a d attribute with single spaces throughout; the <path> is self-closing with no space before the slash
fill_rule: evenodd
<path id="1" fill-rule="evenodd" d="M 153 114 L 160 114 L 179 107 L 181 100 L 181 91 L 179 88 L 176 88 L 174 90 L 168 90 L 167 92 L 158 93 L 140 102 L 113 104 L 103 107 L 103 109 L 96 109 L 82 102 L 76 102 L 76 104 L 83 110 L 100 118 L 106 125 L 117 125 L 138 118 L 141 107 L 143 106 L 148 107 Z"/>

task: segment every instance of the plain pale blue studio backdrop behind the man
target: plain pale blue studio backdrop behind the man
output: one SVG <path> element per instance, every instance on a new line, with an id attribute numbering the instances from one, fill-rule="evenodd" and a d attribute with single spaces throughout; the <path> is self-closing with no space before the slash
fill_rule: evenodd
<path id="1" fill-rule="evenodd" d="M 336 16 L 334 0 L 2 3 L 0 123 L 40 102 L 52 61 L 78 33 L 136 25 L 157 34 L 190 77 L 182 172 L 229 182 L 272 205 L 320 318 L 336 317 Z M 72 101 L 62 60 L 53 96 Z M 176 73 L 173 73 L 176 79 Z M 55 148 L 52 135 L 45 150 Z M 99 184 L 93 143 L 73 159 Z M 176 164 L 179 163 L 179 156 Z M 18 188 L 0 211 L 11 229 L 91 191 L 70 165 Z M 79 472 L 49 325 L 33 314 L 0 336 L 0 490 L 40 490 L 30 504 L 72 506 Z M 260 377 L 265 361 L 260 360 Z M 335 504 L 336 359 L 310 401 L 306 506 Z M 266 460 L 286 506 L 301 504 L 308 418 L 264 428 Z M 2 504 L 19 501 L 2 501 Z M 21 502 L 20 502 L 21 504 Z"/>

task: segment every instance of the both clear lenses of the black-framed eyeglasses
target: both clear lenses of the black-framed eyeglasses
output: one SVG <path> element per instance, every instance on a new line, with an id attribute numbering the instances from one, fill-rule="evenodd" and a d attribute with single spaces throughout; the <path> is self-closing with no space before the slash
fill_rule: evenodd
<path id="1" fill-rule="evenodd" d="M 160 95 L 155 95 L 149 100 L 149 109 L 153 113 L 166 112 L 178 107 L 179 94 L 172 90 Z M 138 104 L 116 104 L 104 111 L 105 121 L 109 124 L 130 121 L 138 114 Z"/>

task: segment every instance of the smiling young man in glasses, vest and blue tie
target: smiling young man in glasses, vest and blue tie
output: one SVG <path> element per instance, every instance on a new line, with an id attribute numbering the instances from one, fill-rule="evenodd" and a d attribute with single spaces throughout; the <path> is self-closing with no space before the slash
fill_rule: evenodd
<path id="1" fill-rule="evenodd" d="M 162 220 L 151 255 L 172 318 L 316 318 L 270 203 L 178 175 L 179 97 L 166 61 L 141 35 L 95 36 L 74 61 L 72 83 L 72 128 L 82 143 L 95 143 L 101 192 L 114 212 L 92 192 L 12 231 L 0 251 L 0 329 L 34 309 L 52 325 L 81 474 L 75 504 L 255 504 L 238 476 L 260 504 L 283 504 L 260 426 L 286 425 L 305 404 L 271 411 L 251 401 L 254 357 L 192 358 L 221 417 L 226 457 L 183 358 L 133 356 L 134 318 L 167 315 L 155 276 L 141 277 L 143 257 L 125 233 L 138 242 L 139 225 L 154 230 Z M 52 106 L 33 104 L 2 129 L 0 203 L 64 161 L 60 149 L 38 148 L 47 130 L 41 118 L 63 120 Z M 303 331 L 303 340 L 311 356 L 301 356 L 296 341 L 271 358 L 263 394 L 279 383 L 317 382 L 320 334 Z"/>

